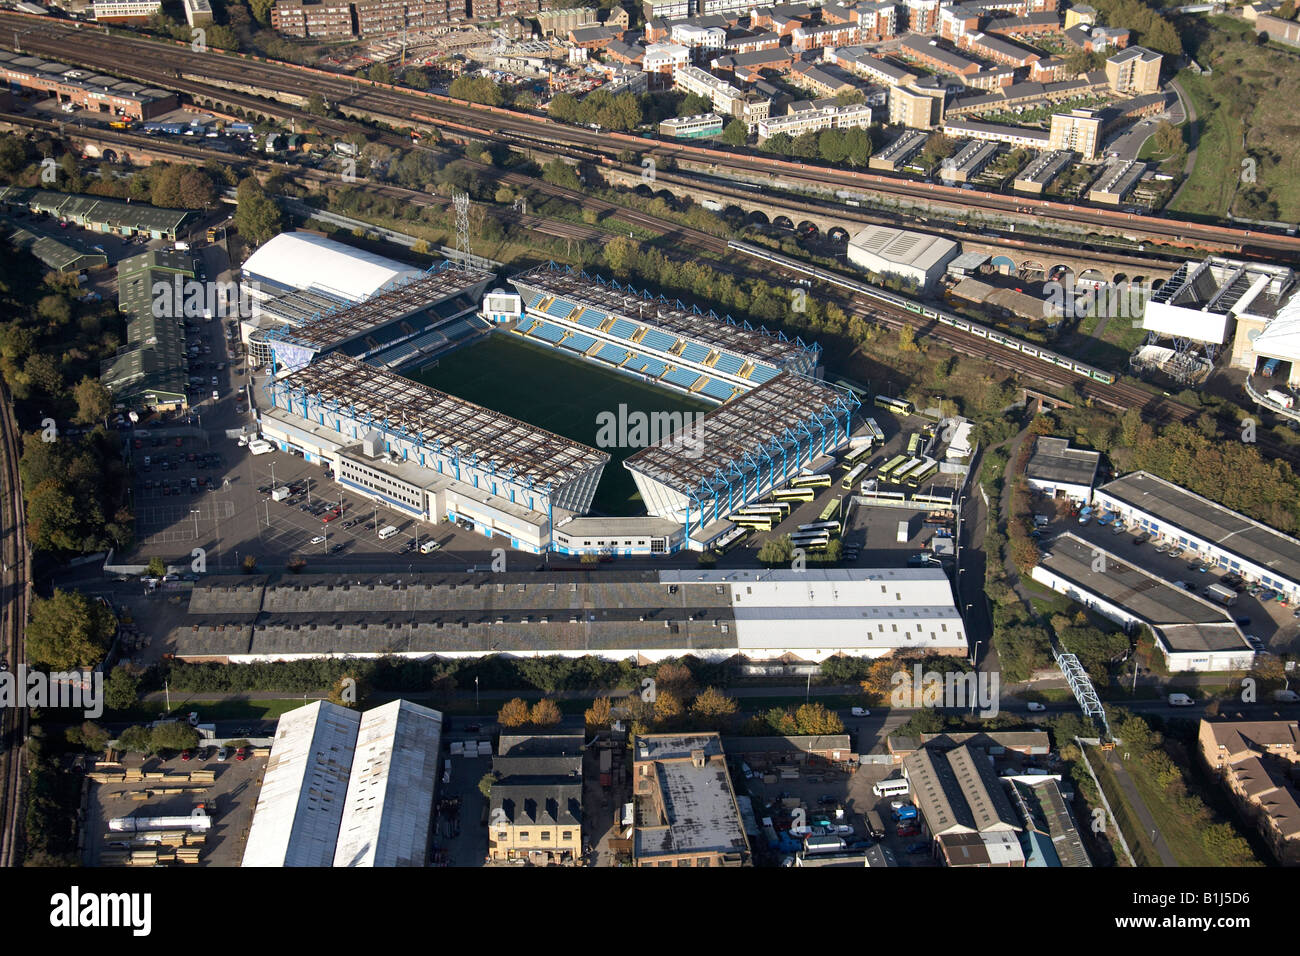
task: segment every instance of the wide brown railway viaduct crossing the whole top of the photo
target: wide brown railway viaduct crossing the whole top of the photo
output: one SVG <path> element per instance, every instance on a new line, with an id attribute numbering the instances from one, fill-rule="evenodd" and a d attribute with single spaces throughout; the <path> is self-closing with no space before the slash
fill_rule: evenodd
<path id="1" fill-rule="evenodd" d="M 1300 237 L 1210 226 L 1154 216 L 1135 216 L 1108 209 L 1092 209 L 1040 199 L 1002 196 L 998 194 L 963 191 L 937 183 L 915 183 L 874 173 L 857 173 L 806 164 L 723 152 L 705 147 L 668 144 L 618 133 L 598 133 L 564 126 L 545 117 L 493 107 L 478 107 L 450 100 L 434 94 L 396 90 L 356 81 L 338 74 L 278 61 L 260 61 L 217 52 L 195 53 L 188 44 L 107 35 L 95 29 L 75 29 L 51 21 L 16 13 L 0 13 L 0 29 L 8 34 L 17 31 L 18 44 L 25 51 L 40 51 L 51 56 L 77 60 L 108 72 L 125 73 L 134 78 L 188 91 L 191 95 L 212 96 L 212 85 L 259 86 L 281 95 L 304 99 L 318 92 L 332 104 L 367 113 L 390 117 L 398 125 L 429 125 L 469 130 L 484 139 L 502 133 L 541 133 L 549 142 L 576 144 L 612 160 L 616 153 L 634 148 L 638 153 L 658 157 L 663 168 L 670 159 L 686 163 L 710 164 L 716 172 L 744 170 L 770 179 L 783 177 L 802 183 L 815 183 L 840 189 L 859 189 L 889 193 L 902 198 L 933 204 L 949 204 L 956 209 L 984 209 L 993 213 L 1034 215 L 1074 222 L 1097 230 L 1126 229 L 1160 237 L 1174 243 L 1209 245 L 1226 251 L 1260 250 L 1268 255 L 1300 258 Z M 130 53 L 129 56 L 125 53 Z M 204 85 L 198 77 L 207 77 Z M 229 99 L 224 91 L 222 98 Z M 256 103 L 256 98 L 250 98 Z M 265 112 L 265 101 L 263 101 Z M 339 126 L 337 121 L 313 120 L 322 130 Z"/>

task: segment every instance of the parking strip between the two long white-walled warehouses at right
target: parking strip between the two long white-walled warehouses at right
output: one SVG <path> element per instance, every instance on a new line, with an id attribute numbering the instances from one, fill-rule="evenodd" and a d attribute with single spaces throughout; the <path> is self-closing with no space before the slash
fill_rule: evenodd
<path id="1" fill-rule="evenodd" d="M 1201 563 L 1195 554 L 1179 549 L 1173 542 L 1150 540 L 1149 536 L 1144 537 L 1140 529 L 1117 525 L 1105 516 L 1079 524 L 1079 515 L 1071 514 L 1067 505 L 1039 494 L 1034 496 L 1032 506 L 1035 514 L 1050 519 L 1039 532 L 1044 538 L 1058 532 L 1072 532 L 1104 550 L 1130 559 L 1140 558 L 1143 570 L 1202 597 L 1210 584 L 1225 584 L 1226 572 L 1222 568 Z M 1300 609 L 1277 600 L 1261 601 L 1260 596 L 1265 592 L 1260 588 L 1253 589 L 1257 593 L 1252 594 L 1249 589 L 1240 588 L 1236 601 L 1227 609 L 1242 632 L 1248 637 L 1257 637 L 1262 649 L 1274 654 L 1300 649 L 1300 617 L 1297 617 Z"/>

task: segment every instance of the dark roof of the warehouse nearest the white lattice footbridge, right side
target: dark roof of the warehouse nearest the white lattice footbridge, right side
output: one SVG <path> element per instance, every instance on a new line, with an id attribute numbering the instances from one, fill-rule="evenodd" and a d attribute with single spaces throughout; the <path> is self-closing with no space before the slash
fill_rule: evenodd
<path id="1" fill-rule="evenodd" d="M 1039 562 L 1058 578 L 1126 609 L 1176 652 L 1247 650 L 1232 617 L 1196 594 L 1135 567 L 1130 561 L 1066 532 L 1044 545 Z M 1105 570 L 1093 571 L 1098 558 Z"/>

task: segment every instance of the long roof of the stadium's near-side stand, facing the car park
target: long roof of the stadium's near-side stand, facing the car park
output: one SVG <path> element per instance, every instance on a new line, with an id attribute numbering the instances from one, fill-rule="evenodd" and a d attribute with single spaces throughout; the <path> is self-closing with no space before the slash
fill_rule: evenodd
<path id="1" fill-rule="evenodd" d="M 604 451 L 337 352 L 276 386 L 318 395 L 341 414 L 386 423 L 430 447 L 458 449 L 460 458 L 480 466 L 491 462 L 515 480 L 558 486 L 610 460 Z"/>

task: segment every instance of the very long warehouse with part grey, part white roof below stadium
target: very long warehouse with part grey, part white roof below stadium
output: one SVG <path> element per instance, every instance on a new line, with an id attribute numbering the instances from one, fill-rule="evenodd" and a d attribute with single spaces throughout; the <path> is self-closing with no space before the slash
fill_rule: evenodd
<path id="1" fill-rule="evenodd" d="M 178 659 L 822 661 L 966 654 L 940 568 L 426 572 L 208 578 L 168 635 Z"/>

